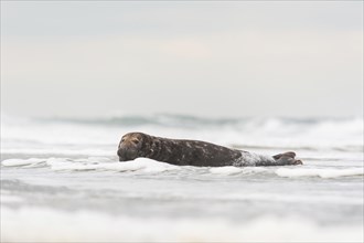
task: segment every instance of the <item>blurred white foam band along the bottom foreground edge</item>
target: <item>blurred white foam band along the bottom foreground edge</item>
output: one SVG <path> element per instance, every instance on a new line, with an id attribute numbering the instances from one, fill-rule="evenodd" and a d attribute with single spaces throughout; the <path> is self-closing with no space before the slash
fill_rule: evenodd
<path id="1" fill-rule="evenodd" d="M 363 242 L 362 225 L 319 226 L 306 219 L 130 218 L 95 211 L 1 208 L 2 242 Z M 21 232 L 21 233 L 20 233 Z"/>

